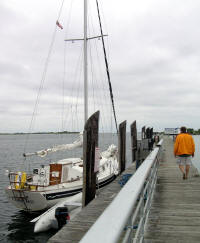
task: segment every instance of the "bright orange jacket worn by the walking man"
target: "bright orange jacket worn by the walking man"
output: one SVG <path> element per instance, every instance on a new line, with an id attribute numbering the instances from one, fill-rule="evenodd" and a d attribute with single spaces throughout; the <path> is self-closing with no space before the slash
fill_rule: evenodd
<path id="1" fill-rule="evenodd" d="M 188 133 L 180 133 L 174 144 L 174 155 L 191 154 L 195 152 L 193 137 Z"/>

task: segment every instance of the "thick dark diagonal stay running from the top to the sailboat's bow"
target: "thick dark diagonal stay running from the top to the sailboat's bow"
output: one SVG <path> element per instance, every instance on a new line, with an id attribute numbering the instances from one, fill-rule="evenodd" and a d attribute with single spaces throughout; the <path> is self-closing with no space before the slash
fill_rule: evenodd
<path id="1" fill-rule="evenodd" d="M 104 37 L 103 37 L 103 30 L 102 30 L 102 25 L 101 25 L 101 17 L 100 17 L 100 13 L 99 13 L 98 0 L 96 0 L 96 4 L 97 4 L 97 12 L 98 12 L 98 18 L 99 18 L 99 27 L 100 27 L 100 31 L 101 31 L 101 40 L 102 40 L 102 45 L 103 45 L 104 60 L 105 60 L 105 64 L 106 64 L 106 72 L 107 72 L 108 84 L 109 84 L 109 89 L 110 89 L 110 98 L 111 98 L 112 107 L 113 107 L 115 126 L 116 126 L 116 130 L 117 130 L 117 133 L 118 133 L 117 118 L 116 118 L 115 105 L 114 105 L 114 97 L 113 97 L 113 92 L 112 92 L 112 84 L 111 84 L 111 81 L 110 81 L 110 72 L 109 72 L 109 67 L 108 67 L 108 61 L 107 61 L 107 55 L 106 55 L 106 49 L 105 49 L 105 43 L 104 43 Z"/>

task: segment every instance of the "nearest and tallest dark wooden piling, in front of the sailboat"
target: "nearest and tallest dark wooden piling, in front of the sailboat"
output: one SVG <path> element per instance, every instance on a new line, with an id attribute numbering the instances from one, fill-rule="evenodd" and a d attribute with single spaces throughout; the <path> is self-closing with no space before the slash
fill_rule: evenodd
<path id="1" fill-rule="evenodd" d="M 98 147 L 99 111 L 86 122 L 83 132 L 83 197 L 86 206 L 95 198 L 96 172 L 94 172 L 95 148 Z"/>

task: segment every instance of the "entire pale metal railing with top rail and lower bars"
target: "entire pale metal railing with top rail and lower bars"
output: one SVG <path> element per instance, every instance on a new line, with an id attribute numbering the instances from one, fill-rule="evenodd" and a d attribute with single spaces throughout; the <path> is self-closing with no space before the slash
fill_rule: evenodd
<path id="1" fill-rule="evenodd" d="M 144 160 L 80 243 L 143 242 L 162 142 Z"/>

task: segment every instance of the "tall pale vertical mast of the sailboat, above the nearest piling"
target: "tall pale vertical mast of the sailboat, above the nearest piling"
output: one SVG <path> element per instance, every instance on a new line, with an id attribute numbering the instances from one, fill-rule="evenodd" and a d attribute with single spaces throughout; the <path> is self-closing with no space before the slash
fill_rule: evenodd
<path id="1" fill-rule="evenodd" d="M 84 0 L 84 120 L 88 119 L 87 0 Z"/>

